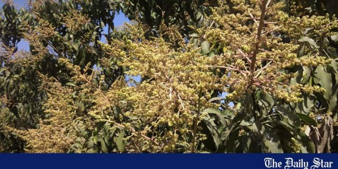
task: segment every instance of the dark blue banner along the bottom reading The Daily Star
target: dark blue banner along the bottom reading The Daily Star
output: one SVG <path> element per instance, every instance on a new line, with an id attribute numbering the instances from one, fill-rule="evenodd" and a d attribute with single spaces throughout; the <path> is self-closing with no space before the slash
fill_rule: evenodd
<path id="1" fill-rule="evenodd" d="M 0 154 L 0 162 L 0 169 L 338 169 L 338 154 Z"/>

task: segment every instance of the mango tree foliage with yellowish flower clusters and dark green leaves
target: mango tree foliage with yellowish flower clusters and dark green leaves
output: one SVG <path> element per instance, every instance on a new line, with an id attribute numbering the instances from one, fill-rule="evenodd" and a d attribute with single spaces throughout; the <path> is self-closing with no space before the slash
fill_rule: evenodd
<path id="1" fill-rule="evenodd" d="M 337 152 L 336 3 L 7 0 L 0 151 Z"/>

